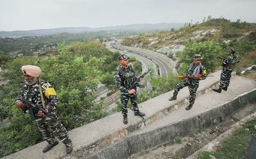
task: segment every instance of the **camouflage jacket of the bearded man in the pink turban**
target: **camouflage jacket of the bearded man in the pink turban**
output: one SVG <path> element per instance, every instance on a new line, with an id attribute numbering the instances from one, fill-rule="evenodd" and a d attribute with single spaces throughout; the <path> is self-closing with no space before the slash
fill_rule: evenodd
<path id="1" fill-rule="evenodd" d="M 53 89 L 53 86 L 50 82 L 41 81 L 41 87 L 42 87 L 42 93 L 44 96 L 44 103 L 46 109 L 49 110 L 49 112 L 56 116 L 56 106 L 57 106 L 57 96 L 56 95 L 47 95 L 45 92 L 45 89 L 51 88 Z M 30 102 L 35 103 L 39 107 L 42 106 L 42 100 L 40 97 L 40 91 L 39 91 L 39 82 L 33 85 L 29 85 L 27 83 L 24 84 L 20 91 L 20 95 L 17 97 L 16 101 L 21 101 L 22 99 L 29 100 Z M 38 116 L 38 112 L 35 112 L 33 109 L 29 109 L 29 107 L 25 107 L 23 109 L 25 113 L 29 113 L 31 116 L 31 119 L 38 119 L 40 116 Z"/>

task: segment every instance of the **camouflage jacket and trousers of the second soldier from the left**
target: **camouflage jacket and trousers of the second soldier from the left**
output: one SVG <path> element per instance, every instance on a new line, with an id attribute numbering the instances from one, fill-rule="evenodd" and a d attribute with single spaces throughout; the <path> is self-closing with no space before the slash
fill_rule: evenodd
<path id="1" fill-rule="evenodd" d="M 122 104 L 122 114 L 124 116 L 127 116 L 127 103 L 129 98 L 131 98 L 133 110 L 135 112 L 139 112 L 138 108 L 138 103 L 136 101 L 137 96 L 135 95 L 129 95 L 129 87 L 132 86 L 132 84 L 136 81 L 137 76 L 134 70 L 132 70 L 131 66 L 127 66 L 127 68 L 124 68 L 120 66 L 116 71 L 115 71 L 115 81 L 116 81 L 116 86 L 118 89 L 120 89 L 120 100 Z M 136 90 L 136 88 L 135 88 Z"/>

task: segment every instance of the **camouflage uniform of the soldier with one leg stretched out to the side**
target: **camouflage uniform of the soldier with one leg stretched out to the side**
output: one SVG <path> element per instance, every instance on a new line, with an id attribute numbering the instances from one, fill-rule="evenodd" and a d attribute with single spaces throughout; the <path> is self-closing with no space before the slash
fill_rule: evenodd
<path id="1" fill-rule="evenodd" d="M 194 72 L 195 68 L 196 68 L 196 66 L 195 66 L 194 63 L 189 64 L 189 67 L 186 70 L 186 76 L 193 75 L 193 72 Z M 199 74 L 202 75 L 202 77 L 201 77 L 202 80 L 204 80 L 206 78 L 206 76 L 205 76 L 205 67 L 202 66 L 202 65 L 201 65 Z M 180 89 L 182 89 L 186 86 L 188 86 L 188 89 L 189 89 L 189 104 L 193 105 L 195 103 L 196 90 L 198 89 L 198 86 L 199 86 L 199 80 L 197 80 L 197 79 L 189 79 L 188 81 L 183 80 L 182 82 L 177 84 L 177 86 L 175 86 L 173 96 L 177 96 Z"/>

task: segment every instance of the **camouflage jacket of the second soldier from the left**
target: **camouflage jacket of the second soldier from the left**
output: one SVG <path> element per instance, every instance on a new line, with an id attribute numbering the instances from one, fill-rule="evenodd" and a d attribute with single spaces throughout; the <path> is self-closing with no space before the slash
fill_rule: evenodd
<path id="1" fill-rule="evenodd" d="M 136 81 L 137 75 L 132 69 L 132 66 L 124 68 L 120 66 L 115 71 L 116 86 L 120 89 L 121 93 L 128 93 L 129 87 Z"/>

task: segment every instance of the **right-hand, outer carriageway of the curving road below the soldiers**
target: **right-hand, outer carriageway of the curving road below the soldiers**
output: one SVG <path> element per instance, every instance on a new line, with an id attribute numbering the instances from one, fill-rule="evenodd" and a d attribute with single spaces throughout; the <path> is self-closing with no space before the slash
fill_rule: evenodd
<path id="1" fill-rule="evenodd" d="M 120 42 L 115 42 L 112 46 L 118 50 L 127 50 L 128 52 L 132 52 L 134 54 L 138 54 L 143 57 L 147 57 L 147 59 L 151 59 L 159 66 L 160 76 L 168 77 L 172 72 L 177 73 L 175 70 L 175 62 L 169 59 L 167 56 L 163 54 L 159 54 L 152 50 L 140 49 L 136 47 L 127 47 L 121 45 Z"/>

